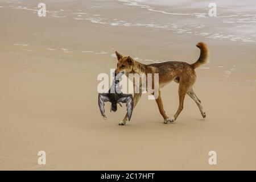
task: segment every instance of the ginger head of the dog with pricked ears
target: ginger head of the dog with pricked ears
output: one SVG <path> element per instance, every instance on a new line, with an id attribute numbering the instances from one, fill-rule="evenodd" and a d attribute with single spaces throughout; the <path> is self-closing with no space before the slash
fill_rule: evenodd
<path id="1" fill-rule="evenodd" d="M 115 55 L 117 55 L 117 69 L 115 69 L 115 74 L 122 73 L 128 75 L 133 71 L 134 60 L 130 56 L 122 56 L 118 52 L 115 51 Z"/>

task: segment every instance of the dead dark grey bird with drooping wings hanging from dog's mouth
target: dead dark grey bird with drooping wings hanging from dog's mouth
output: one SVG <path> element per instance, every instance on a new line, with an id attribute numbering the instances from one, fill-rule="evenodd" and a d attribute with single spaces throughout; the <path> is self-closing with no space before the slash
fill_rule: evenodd
<path id="1" fill-rule="evenodd" d="M 101 115 L 106 119 L 105 115 L 105 102 L 111 102 L 111 111 L 117 111 L 117 104 L 121 105 L 126 103 L 128 119 L 130 121 L 131 114 L 133 113 L 133 96 L 131 94 L 123 94 L 119 85 L 119 78 L 115 75 L 115 78 L 112 82 L 112 85 L 108 93 L 99 93 L 98 94 L 98 106 L 100 107 Z"/>

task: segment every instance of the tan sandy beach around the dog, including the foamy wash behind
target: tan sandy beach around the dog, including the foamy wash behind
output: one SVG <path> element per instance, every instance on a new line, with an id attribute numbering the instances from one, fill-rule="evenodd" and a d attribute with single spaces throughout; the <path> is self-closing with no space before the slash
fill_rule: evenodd
<path id="1" fill-rule="evenodd" d="M 209 17 L 210 1 L 48 0 L 39 17 L 39 2 L 0 1 L 1 170 L 256 169 L 255 3 L 217 1 Z M 97 76 L 116 67 L 115 51 L 143 64 L 194 63 L 197 42 L 210 50 L 194 86 L 207 118 L 186 97 L 165 125 L 147 94 L 125 126 L 125 107 L 106 104 L 101 117 Z M 169 117 L 178 86 L 162 89 Z"/>

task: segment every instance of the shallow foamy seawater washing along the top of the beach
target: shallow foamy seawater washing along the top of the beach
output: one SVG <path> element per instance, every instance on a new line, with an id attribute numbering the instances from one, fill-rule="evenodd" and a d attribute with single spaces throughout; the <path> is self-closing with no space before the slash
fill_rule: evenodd
<path id="1" fill-rule="evenodd" d="M 26 0 L 1 0 L 3 8 L 28 10 L 37 7 Z M 40 2 L 40 1 L 38 1 Z M 79 9 L 64 9 L 64 3 L 79 4 Z M 72 18 L 112 27 L 144 27 L 172 34 L 202 36 L 208 39 L 256 43 L 256 1 L 216 0 L 217 16 L 210 17 L 213 1 L 168 0 L 46 0 L 59 3 L 59 9 L 47 9 L 52 18 Z M 56 6 L 55 6 L 56 7 Z M 133 12 L 133 13 L 131 13 Z"/>

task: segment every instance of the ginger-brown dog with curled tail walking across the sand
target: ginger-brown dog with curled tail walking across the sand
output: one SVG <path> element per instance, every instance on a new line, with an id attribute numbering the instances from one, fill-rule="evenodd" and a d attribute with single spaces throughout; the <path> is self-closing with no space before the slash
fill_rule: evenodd
<path id="1" fill-rule="evenodd" d="M 206 115 L 203 111 L 201 101 L 196 96 L 195 92 L 193 92 L 192 86 L 196 81 L 195 68 L 199 67 L 201 64 L 207 63 L 209 51 L 207 45 L 203 42 L 197 43 L 196 46 L 200 48 L 200 56 L 196 63 L 193 64 L 179 61 L 168 61 L 164 63 L 144 65 L 142 63 L 139 63 L 138 61 L 134 61 L 130 56 L 123 57 L 118 52 L 115 52 L 118 59 L 117 69 L 115 69 L 115 73 L 125 73 L 126 76 L 128 76 L 129 73 L 145 73 L 146 75 L 148 73 L 159 73 L 159 89 L 171 82 L 172 80 L 179 83 L 179 107 L 174 114 L 174 117 L 172 117 L 171 119 L 167 117 L 166 112 L 164 111 L 162 98 L 159 90 L 159 95 L 158 98 L 156 98 L 156 103 L 158 104 L 160 114 L 164 118 L 164 123 L 168 123 L 168 121 L 174 122 L 177 119 L 178 115 L 183 110 L 185 94 L 188 94 L 188 96 L 190 96 L 196 102 L 197 106 L 200 109 L 201 115 L 203 116 L 203 118 L 205 118 Z M 154 85 L 154 80 L 152 80 L 152 85 Z M 141 94 L 141 92 L 134 94 L 134 107 L 137 105 L 139 99 L 141 98 Z M 123 120 L 119 122 L 119 125 L 125 125 L 126 121 L 127 114 L 125 115 L 125 118 L 123 118 Z"/>

